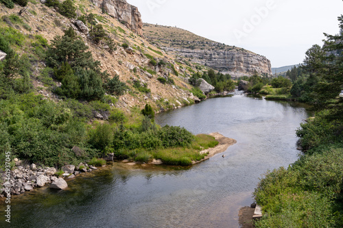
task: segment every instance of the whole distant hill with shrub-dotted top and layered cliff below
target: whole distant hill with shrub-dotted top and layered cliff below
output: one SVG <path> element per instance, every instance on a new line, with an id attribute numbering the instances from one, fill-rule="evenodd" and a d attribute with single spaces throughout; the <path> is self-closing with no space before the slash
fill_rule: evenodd
<path id="1" fill-rule="evenodd" d="M 184 29 L 145 23 L 143 34 L 150 42 L 178 55 L 180 60 L 204 64 L 233 77 L 250 76 L 255 72 L 272 75 L 270 60 L 264 56 L 196 36 Z"/>

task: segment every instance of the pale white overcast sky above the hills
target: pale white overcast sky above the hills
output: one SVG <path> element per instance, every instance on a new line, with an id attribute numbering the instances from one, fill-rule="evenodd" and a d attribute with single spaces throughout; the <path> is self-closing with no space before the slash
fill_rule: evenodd
<path id="1" fill-rule="evenodd" d="M 342 0 L 127 0 L 143 23 L 176 26 L 243 47 L 272 67 L 299 64 L 312 45 L 338 34 Z"/>

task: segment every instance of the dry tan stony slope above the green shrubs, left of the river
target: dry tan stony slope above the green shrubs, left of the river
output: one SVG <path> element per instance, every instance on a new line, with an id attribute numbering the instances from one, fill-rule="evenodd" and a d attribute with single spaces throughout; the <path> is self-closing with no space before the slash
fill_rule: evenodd
<path id="1" fill-rule="evenodd" d="M 32 48 L 32 44 L 36 42 L 36 36 L 42 36 L 51 44 L 51 40 L 55 36 L 62 36 L 67 28 L 73 27 L 88 46 L 94 60 L 101 62 L 102 71 L 107 71 L 110 77 L 119 75 L 119 79 L 127 84 L 128 92 L 120 98 L 117 97 L 119 101 L 115 104 L 127 113 L 130 112 L 132 107 L 136 105 L 143 107 L 145 103 L 150 103 L 154 110 L 158 112 L 160 109 L 167 110 L 168 108 L 194 102 L 194 97 L 189 92 L 191 86 L 185 83 L 185 80 L 182 78 L 196 71 L 196 66 L 193 66 L 193 64 L 176 64 L 173 55 L 166 54 L 163 50 L 154 47 L 138 34 L 134 34 L 132 30 L 128 29 L 130 26 L 123 23 L 123 21 L 119 22 L 113 16 L 102 14 L 101 10 L 96 8 L 96 4 L 90 1 L 80 1 L 76 6 L 78 8 L 78 16 L 86 13 L 93 13 L 95 15 L 97 23 L 104 27 L 108 34 L 107 36 L 112 38 L 117 44 L 115 51 L 109 51 L 108 46 L 104 42 L 94 42 L 88 32 L 84 33 L 78 29 L 75 25 L 75 20 L 69 20 L 58 14 L 54 8 L 48 8 L 46 5 L 34 0 L 28 3 L 27 10 L 19 17 L 17 16 L 19 10 L 21 10 L 19 5 L 15 5 L 13 9 L 0 5 L 0 16 L 2 18 L 0 27 L 3 29 L 11 27 L 14 32 L 18 31 L 22 34 L 23 43 L 21 45 L 14 45 L 14 49 L 20 51 L 21 55 L 31 56 L 36 55 L 35 50 Z M 20 18 L 20 21 L 15 21 L 14 19 L 11 22 L 6 19 L 11 17 Z M 88 25 L 88 30 L 90 30 L 89 27 Z M 127 44 L 129 48 L 121 47 L 122 44 Z M 162 61 L 165 64 L 156 64 L 154 66 L 154 64 L 150 63 L 152 59 L 157 63 Z M 43 96 L 49 98 L 56 97 L 51 90 L 60 85 L 59 82 L 51 75 L 49 79 L 41 77 L 45 68 L 44 60 L 37 60 L 35 58 L 31 62 L 35 68 L 31 74 L 31 79 L 33 80 L 36 93 L 43 94 Z M 163 77 L 167 81 L 172 79 L 170 81 L 173 82 L 171 84 L 162 84 L 158 81 L 158 77 Z M 49 84 L 46 83 L 47 80 Z M 143 89 L 140 89 L 140 91 L 139 88 L 135 88 L 135 81 L 139 81 L 141 87 L 145 87 L 147 90 L 141 92 Z M 164 103 L 163 99 L 169 102 Z"/>

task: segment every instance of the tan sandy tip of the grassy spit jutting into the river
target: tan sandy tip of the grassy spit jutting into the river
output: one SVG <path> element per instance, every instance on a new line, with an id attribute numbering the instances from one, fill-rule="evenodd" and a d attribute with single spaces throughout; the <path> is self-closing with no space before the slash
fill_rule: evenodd
<path id="1" fill-rule="evenodd" d="M 204 151 L 200 151 L 200 153 L 209 153 L 209 154 L 206 155 L 206 157 L 204 157 L 204 159 L 202 159 L 200 161 L 197 161 L 197 162 L 193 161 L 192 164 L 198 164 L 200 162 L 203 162 L 204 160 L 208 160 L 210 157 L 213 157 L 215 154 L 222 153 L 222 152 L 226 151 L 226 149 L 228 149 L 228 147 L 232 146 L 233 144 L 235 144 L 237 142 L 233 138 L 227 138 L 218 132 L 211 133 L 209 135 L 213 136 L 215 138 L 215 140 L 217 140 L 219 142 L 219 144 L 217 144 L 216 147 L 209 148 L 209 149 L 206 149 Z"/>

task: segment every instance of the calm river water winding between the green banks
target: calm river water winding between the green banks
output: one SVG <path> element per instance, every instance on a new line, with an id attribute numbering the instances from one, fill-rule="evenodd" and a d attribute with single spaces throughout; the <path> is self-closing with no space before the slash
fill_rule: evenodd
<path id="1" fill-rule="evenodd" d="M 243 94 L 208 99 L 156 116 L 193 134 L 220 132 L 237 144 L 191 167 L 115 163 L 68 182 L 15 196 L 11 226 L 240 227 L 238 212 L 267 170 L 298 159 L 295 131 L 309 113 L 299 103 Z"/>

